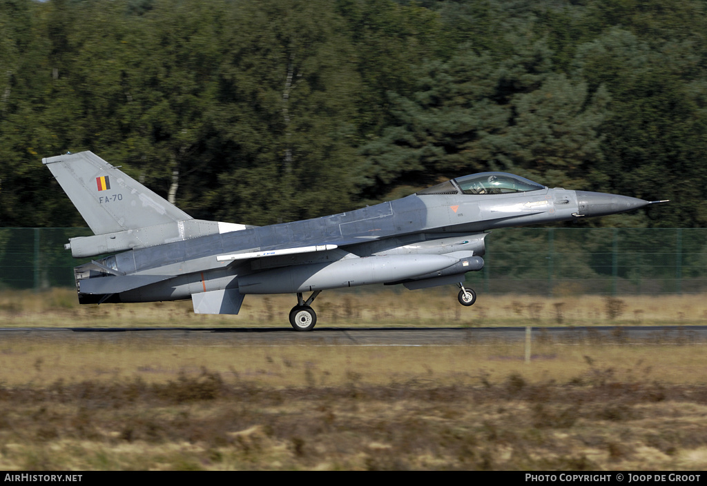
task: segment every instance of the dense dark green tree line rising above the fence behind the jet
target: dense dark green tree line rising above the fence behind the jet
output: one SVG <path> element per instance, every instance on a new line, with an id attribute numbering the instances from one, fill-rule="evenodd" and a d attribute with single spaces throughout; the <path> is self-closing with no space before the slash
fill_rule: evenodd
<path id="1" fill-rule="evenodd" d="M 83 226 L 93 150 L 197 218 L 269 224 L 484 170 L 707 224 L 704 0 L 0 0 L 0 226 Z"/>

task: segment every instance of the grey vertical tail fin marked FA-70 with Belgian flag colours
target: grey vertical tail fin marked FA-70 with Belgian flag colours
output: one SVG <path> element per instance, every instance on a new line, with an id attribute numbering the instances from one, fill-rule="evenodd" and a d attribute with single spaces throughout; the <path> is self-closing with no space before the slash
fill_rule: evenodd
<path id="1" fill-rule="evenodd" d="M 95 235 L 192 219 L 92 152 L 42 159 Z"/>

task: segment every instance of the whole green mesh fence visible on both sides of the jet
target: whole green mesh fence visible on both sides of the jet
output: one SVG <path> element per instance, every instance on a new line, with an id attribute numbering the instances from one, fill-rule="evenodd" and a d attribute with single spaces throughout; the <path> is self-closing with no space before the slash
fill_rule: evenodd
<path id="1" fill-rule="evenodd" d="M 0 228 L 0 289 L 73 287 L 69 237 L 88 228 Z M 707 292 L 707 229 L 508 228 L 486 237 L 479 292 L 578 294 Z"/>

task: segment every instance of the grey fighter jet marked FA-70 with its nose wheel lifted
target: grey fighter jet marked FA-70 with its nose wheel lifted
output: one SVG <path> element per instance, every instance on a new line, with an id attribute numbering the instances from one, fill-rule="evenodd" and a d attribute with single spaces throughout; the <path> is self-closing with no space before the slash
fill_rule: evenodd
<path id="1" fill-rule="evenodd" d="M 197 220 L 97 155 L 42 159 L 94 235 L 64 245 L 81 304 L 191 299 L 198 314 L 238 314 L 248 294 L 295 294 L 296 331 L 317 323 L 322 290 L 457 285 L 484 267 L 488 231 L 623 213 L 663 201 L 550 189 L 505 172 L 457 177 L 395 201 L 264 227 Z M 311 292 L 305 300 L 305 292 Z"/>

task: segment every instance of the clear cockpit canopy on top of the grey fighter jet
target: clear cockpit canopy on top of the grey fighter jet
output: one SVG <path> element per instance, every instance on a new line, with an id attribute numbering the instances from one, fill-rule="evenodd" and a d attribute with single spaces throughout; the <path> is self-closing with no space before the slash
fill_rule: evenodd
<path id="1" fill-rule="evenodd" d="M 509 194 L 545 189 L 545 186 L 507 172 L 481 172 L 457 177 L 416 193 L 425 194 Z"/>

